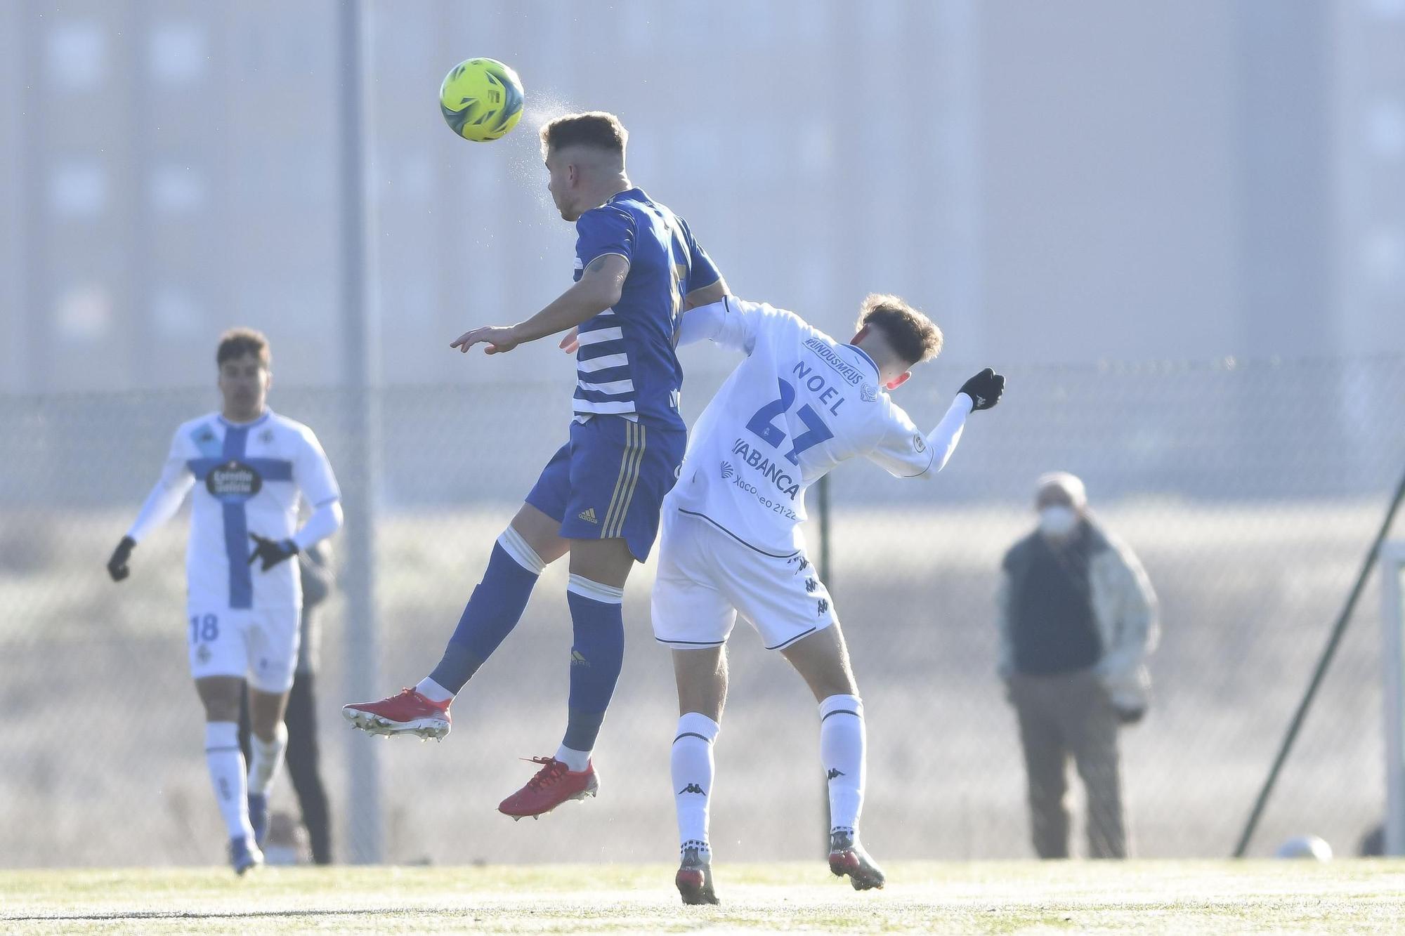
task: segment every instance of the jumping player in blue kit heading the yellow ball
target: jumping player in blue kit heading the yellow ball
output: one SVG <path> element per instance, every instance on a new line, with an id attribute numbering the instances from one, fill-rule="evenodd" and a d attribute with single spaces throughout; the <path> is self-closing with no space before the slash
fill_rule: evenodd
<path id="1" fill-rule="evenodd" d="M 555 756 L 534 758 L 541 769 L 499 805 L 514 818 L 599 788 L 590 752 L 624 659 L 624 583 L 649 555 L 687 440 L 673 350 L 679 319 L 726 295 L 687 223 L 629 183 L 625 141 L 613 114 L 570 114 L 542 126 L 548 188 L 561 216 L 576 223 L 576 284 L 524 322 L 472 329 L 451 346 L 503 354 L 576 329 L 562 342 L 576 351 L 570 440 L 497 538 L 438 666 L 414 689 L 343 707 L 371 734 L 447 735 L 455 694 L 517 624 L 541 571 L 569 552 L 566 734 Z"/>

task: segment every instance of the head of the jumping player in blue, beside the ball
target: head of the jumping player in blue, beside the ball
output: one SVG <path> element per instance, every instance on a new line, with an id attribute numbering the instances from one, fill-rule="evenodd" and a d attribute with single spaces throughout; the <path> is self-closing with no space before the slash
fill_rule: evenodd
<path id="1" fill-rule="evenodd" d="M 620 118 L 604 111 L 566 114 L 542 125 L 547 190 L 562 218 L 575 221 L 629 187 L 624 173 L 628 139 Z"/>

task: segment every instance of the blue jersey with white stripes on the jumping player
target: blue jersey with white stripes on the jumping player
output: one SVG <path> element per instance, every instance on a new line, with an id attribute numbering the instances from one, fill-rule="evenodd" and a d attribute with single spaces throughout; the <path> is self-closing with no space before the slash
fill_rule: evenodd
<path id="1" fill-rule="evenodd" d="M 687 223 L 639 188 L 580 215 L 576 235 L 576 280 L 597 257 L 629 261 L 620 301 L 580 325 L 576 422 L 610 415 L 684 429 L 677 323 L 683 297 L 717 282 L 717 267 Z"/>

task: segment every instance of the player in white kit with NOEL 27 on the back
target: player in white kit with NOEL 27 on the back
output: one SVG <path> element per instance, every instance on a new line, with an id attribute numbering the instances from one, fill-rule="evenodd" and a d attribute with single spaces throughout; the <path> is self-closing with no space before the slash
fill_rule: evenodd
<path id="1" fill-rule="evenodd" d="M 686 904 L 715 904 L 708 802 L 712 741 L 726 698 L 726 639 L 738 611 L 795 666 L 819 701 L 829 783 L 829 867 L 856 890 L 884 885 L 858 843 L 864 793 L 863 703 L 829 592 L 805 558 L 805 489 L 865 457 L 899 478 L 932 478 L 967 416 L 995 406 L 1005 378 L 986 368 L 922 433 L 888 391 L 941 350 L 941 332 L 892 295 L 864 301 L 842 344 L 792 312 L 728 297 L 683 318 L 679 343 L 711 339 L 746 353 L 688 438 L 663 502 L 653 632 L 673 648 L 679 728 L 672 774 Z"/>

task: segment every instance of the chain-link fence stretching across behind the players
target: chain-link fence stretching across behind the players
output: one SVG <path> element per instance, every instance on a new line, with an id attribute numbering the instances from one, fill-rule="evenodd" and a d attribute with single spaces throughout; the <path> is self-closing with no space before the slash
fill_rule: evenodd
<path id="1" fill-rule="evenodd" d="M 919 374 L 919 424 L 964 368 Z M 1227 854 L 1352 578 L 1405 471 L 1405 360 L 1016 368 L 972 417 L 934 485 L 873 465 L 832 481 L 830 568 L 868 714 L 864 833 L 892 857 L 1030 853 L 1013 714 L 995 676 L 992 594 L 1033 526 L 1033 481 L 1064 468 L 1144 561 L 1161 597 L 1149 717 L 1123 734 L 1134 849 Z M 715 378 L 693 378 L 694 416 Z M 336 389 L 274 392 L 334 465 Z M 174 426 L 211 391 L 0 399 L 0 864 L 200 863 L 223 833 L 201 753 L 183 641 L 184 514 L 112 585 L 103 569 Z M 443 745 L 381 742 L 337 708 L 412 684 L 540 467 L 565 438 L 568 388 L 384 391 L 378 486 L 378 686 L 347 686 L 344 602 L 325 613 L 318 717 L 346 853 L 347 746 L 382 745 L 386 859 L 438 863 L 667 859 L 674 853 L 667 651 L 651 638 L 652 564 L 625 597 L 625 669 L 601 734 L 600 798 L 511 824 L 496 802 L 554 750 L 565 722 L 565 569 L 455 703 Z M 341 467 L 341 465 L 339 465 Z M 346 471 L 350 467 L 341 467 Z M 813 495 L 812 495 L 813 509 Z M 357 524 L 358 517 L 348 517 Z M 812 527 L 818 524 L 812 523 Z M 816 531 L 809 531 L 818 555 Z M 562 564 L 558 564 L 562 565 Z M 1378 625 L 1363 602 L 1252 853 L 1290 833 L 1350 852 L 1381 819 Z M 725 859 L 808 857 L 823 783 L 813 703 L 743 627 L 717 746 L 714 843 Z M 1076 790 L 1076 784 L 1075 784 Z M 294 810 L 284 780 L 275 808 Z"/>

